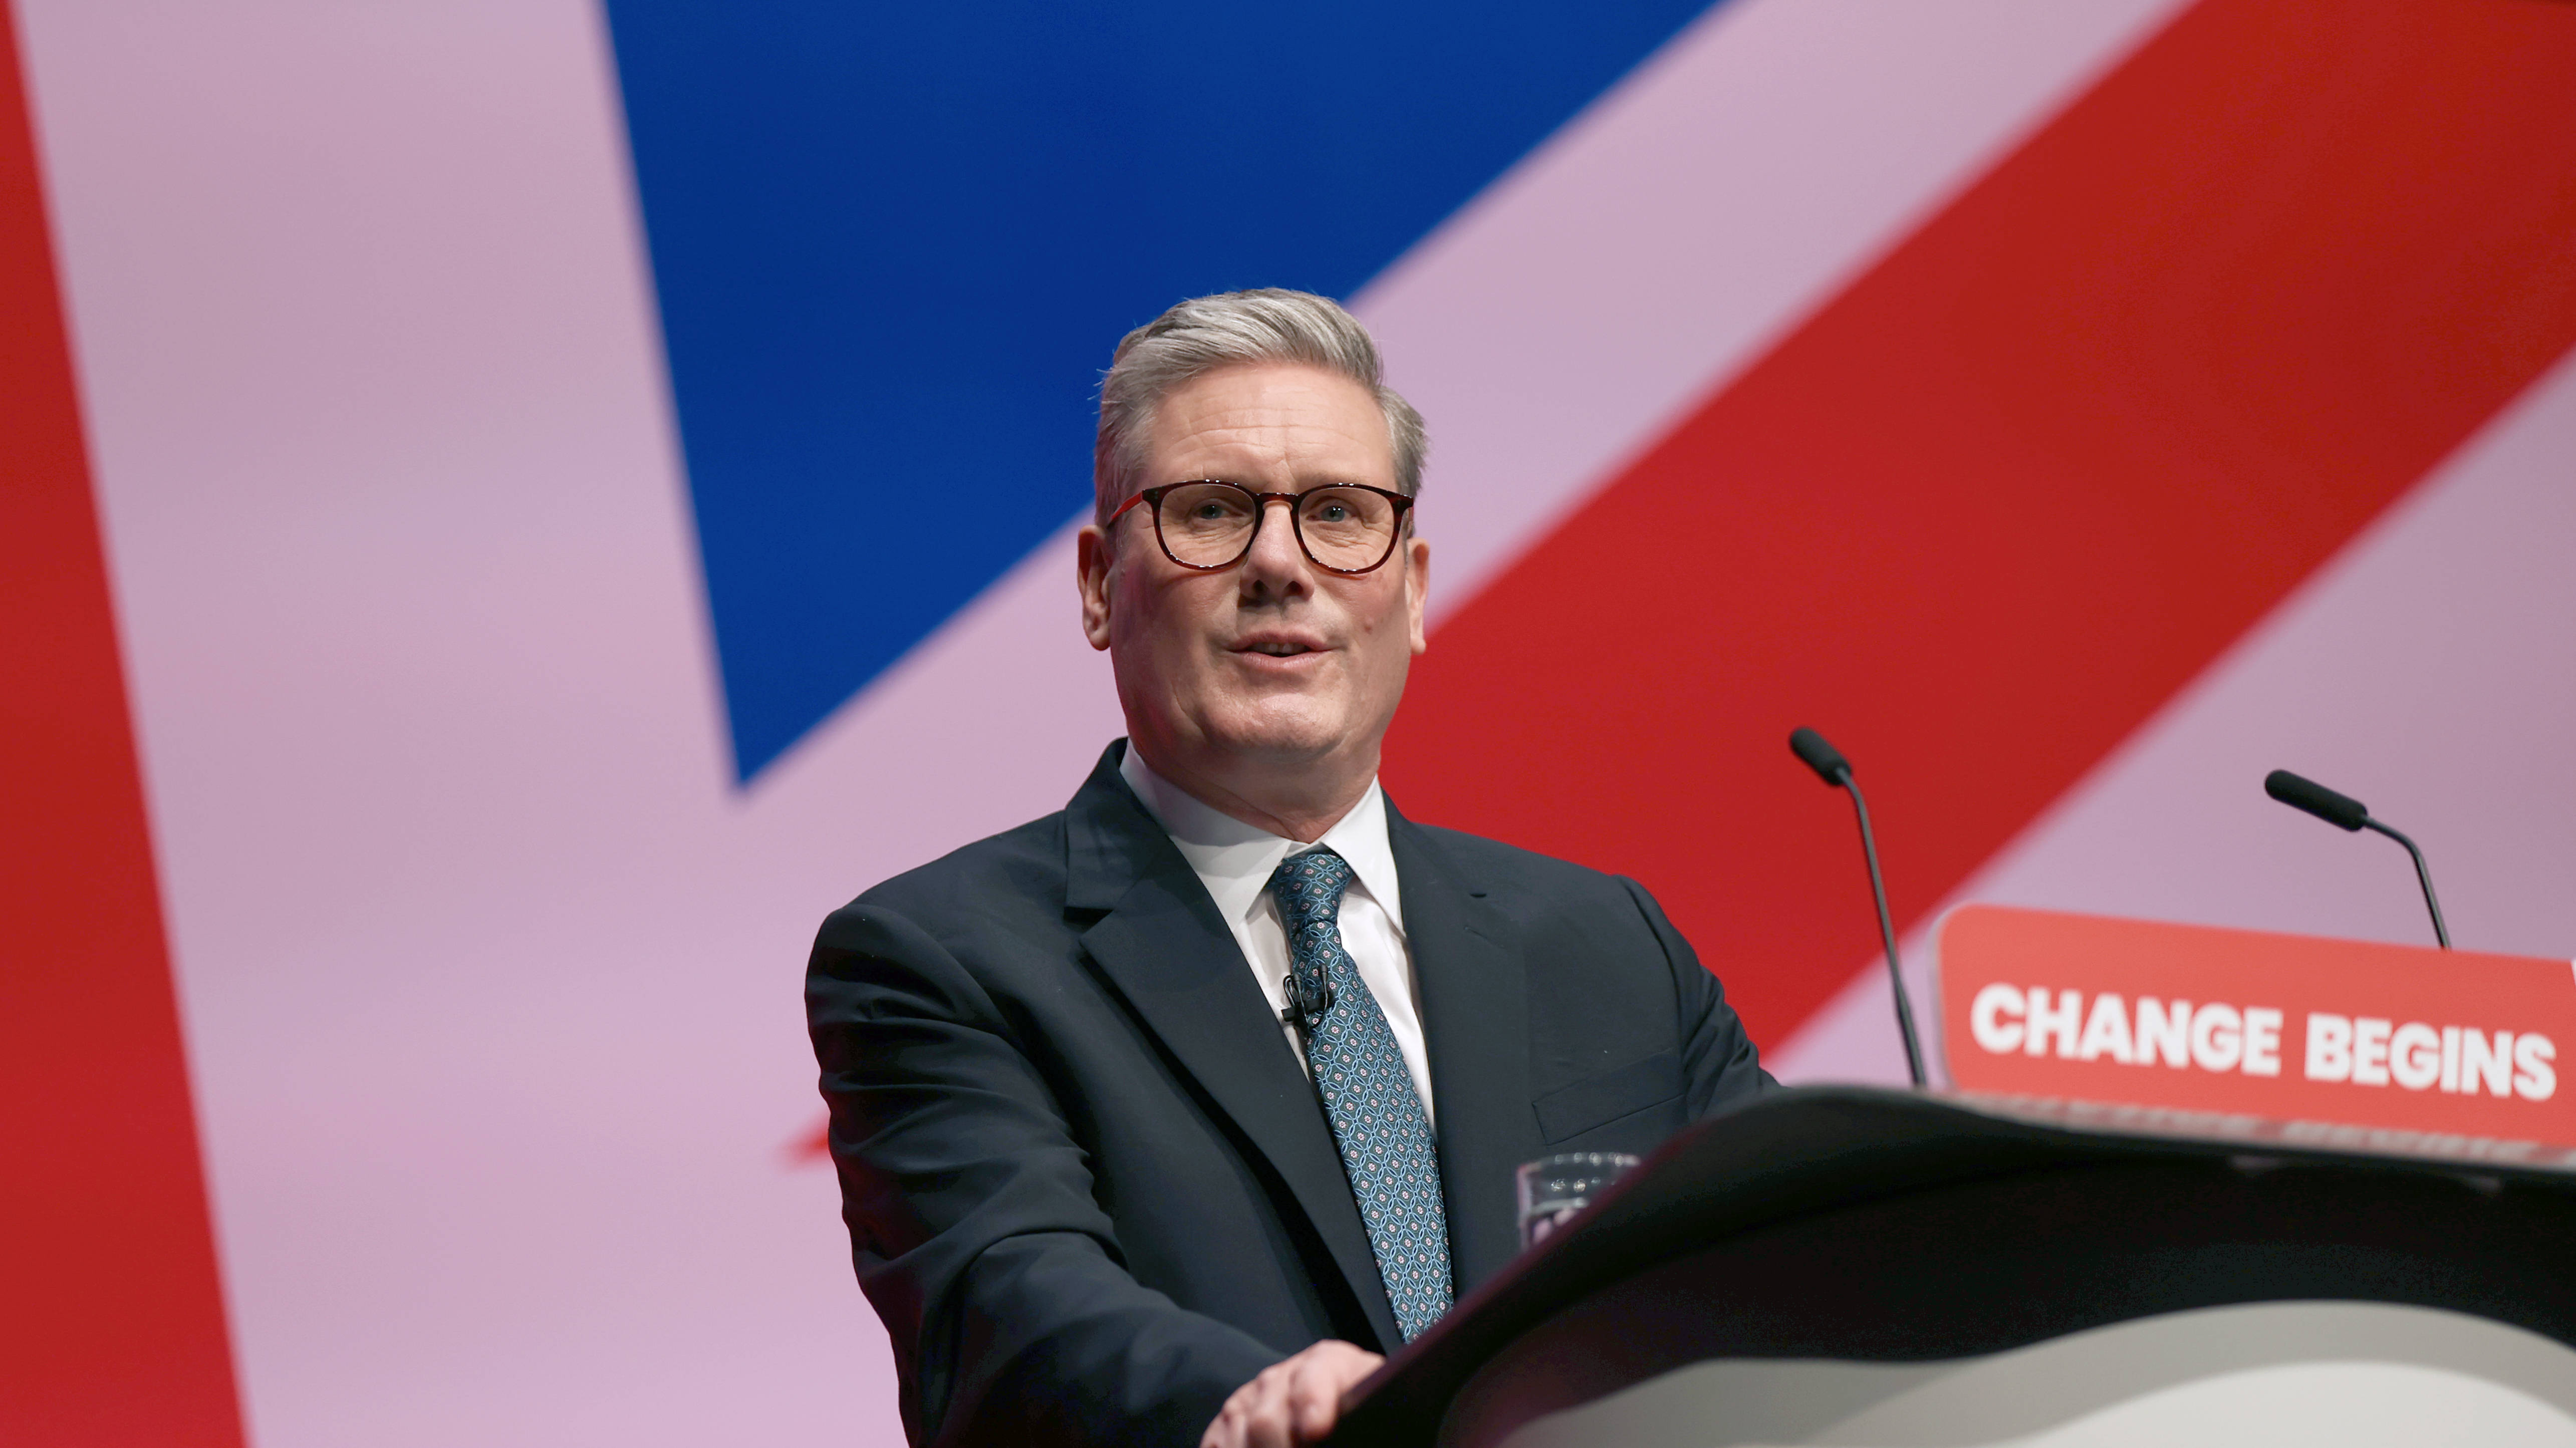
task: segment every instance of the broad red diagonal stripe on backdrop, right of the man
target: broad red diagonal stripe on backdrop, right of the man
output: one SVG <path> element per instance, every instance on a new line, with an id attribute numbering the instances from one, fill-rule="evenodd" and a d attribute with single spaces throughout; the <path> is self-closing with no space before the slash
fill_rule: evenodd
<path id="1" fill-rule="evenodd" d="M 1878 946 L 1790 727 L 1919 917 L 2576 343 L 2571 240 L 2576 8 L 2208 0 L 1461 611 L 1391 788 L 1777 1041 Z"/>

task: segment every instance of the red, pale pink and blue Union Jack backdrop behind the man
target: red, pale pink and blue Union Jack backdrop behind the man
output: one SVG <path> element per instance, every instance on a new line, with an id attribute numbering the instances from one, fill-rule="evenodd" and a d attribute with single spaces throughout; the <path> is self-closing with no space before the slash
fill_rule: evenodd
<path id="1" fill-rule="evenodd" d="M 1090 389 L 1200 291 L 1430 417 L 1388 791 L 1785 1080 L 1904 1069 L 1798 724 L 1909 940 L 2421 940 L 2287 765 L 2576 951 L 2576 5 L 0 18 L 10 1443 L 899 1443 L 804 951 L 1121 732 Z"/>

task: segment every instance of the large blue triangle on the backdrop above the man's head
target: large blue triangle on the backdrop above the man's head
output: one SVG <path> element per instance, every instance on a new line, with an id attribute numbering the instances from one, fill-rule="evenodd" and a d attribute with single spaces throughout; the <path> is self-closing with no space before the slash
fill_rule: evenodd
<path id="1" fill-rule="evenodd" d="M 739 778 L 1084 505 L 1126 327 L 1355 291 L 1705 3 L 608 0 Z"/>

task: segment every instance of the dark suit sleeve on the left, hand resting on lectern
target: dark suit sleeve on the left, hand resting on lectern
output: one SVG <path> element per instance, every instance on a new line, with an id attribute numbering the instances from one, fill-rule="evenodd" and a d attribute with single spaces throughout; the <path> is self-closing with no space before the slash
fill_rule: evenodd
<path id="1" fill-rule="evenodd" d="M 1193 1445 L 1280 1358 L 1128 1275 L 1061 1105 L 925 930 L 832 915 L 806 1023 L 912 1443 Z"/>

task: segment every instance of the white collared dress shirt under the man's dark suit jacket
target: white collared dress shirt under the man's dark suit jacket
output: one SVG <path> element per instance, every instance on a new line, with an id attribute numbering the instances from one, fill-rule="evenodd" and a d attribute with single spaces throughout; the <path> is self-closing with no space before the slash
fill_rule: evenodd
<path id="1" fill-rule="evenodd" d="M 1404 1051 L 1404 1069 L 1414 1074 L 1414 1095 L 1422 1098 L 1422 1116 L 1432 1116 L 1432 1069 L 1422 1049 L 1422 1002 L 1414 995 L 1414 956 L 1404 943 L 1404 897 L 1396 891 L 1396 855 L 1386 845 L 1386 796 L 1378 781 L 1368 781 L 1368 794 L 1314 845 L 1273 835 L 1242 819 L 1208 809 L 1190 791 L 1170 783 L 1146 768 L 1128 745 L 1118 760 L 1118 776 L 1128 781 L 1136 799 L 1162 824 L 1164 835 L 1180 845 L 1180 858 L 1190 861 L 1200 884 L 1216 899 L 1216 912 L 1234 930 L 1234 943 L 1252 964 L 1252 979 L 1270 1002 L 1270 1015 L 1288 1013 L 1288 925 L 1280 922 L 1278 899 L 1270 897 L 1270 871 L 1288 855 L 1332 848 L 1350 861 L 1350 889 L 1342 894 L 1342 948 L 1360 966 L 1368 995 L 1378 997 L 1386 1028 L 1396 1033 Z M 1296 1025 L 1280 1020 L 1288 1046 L 1306 1067 L 1306 1051 L 1296 1038 Z"/>

